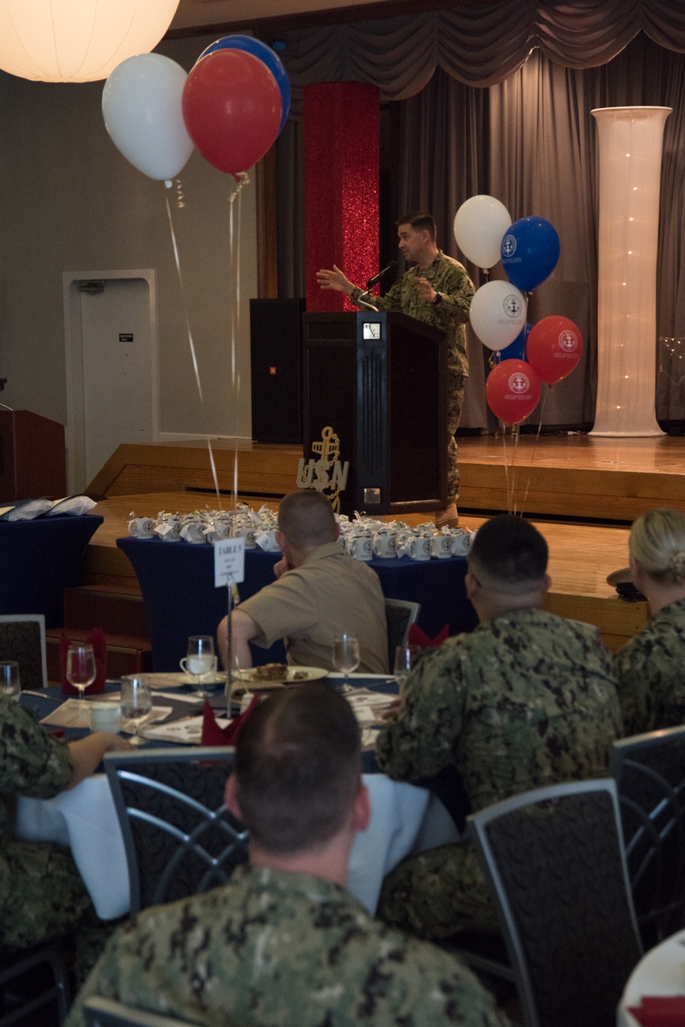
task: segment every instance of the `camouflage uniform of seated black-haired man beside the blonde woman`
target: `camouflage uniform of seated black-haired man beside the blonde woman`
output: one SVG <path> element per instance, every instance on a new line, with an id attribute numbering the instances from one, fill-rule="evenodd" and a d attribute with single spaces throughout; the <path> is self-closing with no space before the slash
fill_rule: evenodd
<path id="1" fill-rule="evenodd" d="M 471 809 L 533 788 L 606 773 L 622 733 L 611 654 L 597 629 L 534 607 L 480 624 L 421 656 L 376 759 L 414 782 L 456 764 Z M 380 919 L 445 938 L 496 930 L 474 850 L 410 857 L 385 879 Z"/>

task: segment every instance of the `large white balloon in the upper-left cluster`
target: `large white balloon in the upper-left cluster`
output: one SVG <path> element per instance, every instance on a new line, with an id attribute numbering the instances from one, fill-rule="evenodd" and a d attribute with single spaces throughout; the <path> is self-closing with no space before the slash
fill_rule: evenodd
<path id="1" fill-rule="evenodd" d="M 181 111 L 187 78 L 161 53 L 127 58 L 103 89 L 103 117 L 112 142 L 151 179 L 173 179 L 193 151 Z"/>

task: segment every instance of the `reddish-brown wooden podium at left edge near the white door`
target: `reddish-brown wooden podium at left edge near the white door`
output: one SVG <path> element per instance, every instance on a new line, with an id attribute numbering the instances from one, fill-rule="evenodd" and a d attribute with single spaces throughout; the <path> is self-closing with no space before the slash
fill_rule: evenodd
<path id="1" fill-rule="evenodd" d="M 0 502 L 66 495 L 64 424 L 29 410 L 1 410 Z"/>

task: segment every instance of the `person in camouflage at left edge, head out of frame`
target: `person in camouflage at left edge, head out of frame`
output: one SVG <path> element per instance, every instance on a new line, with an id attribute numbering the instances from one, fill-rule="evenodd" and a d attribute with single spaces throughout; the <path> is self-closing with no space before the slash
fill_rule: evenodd
<path id="1" fill-rule="evenodd" d="M 0 793 L 51 799 L 91 774 L 117 734 L 60 741 L 18 702 L 0 696 Z M 27 949 L 76 933 L 79 971 L 89 969 L 111 928 L 101 924 L 69 849 L 8 837 L 0 798 L 0 948 Z M 100 951 L 93 951 L 100 944 Z"/>

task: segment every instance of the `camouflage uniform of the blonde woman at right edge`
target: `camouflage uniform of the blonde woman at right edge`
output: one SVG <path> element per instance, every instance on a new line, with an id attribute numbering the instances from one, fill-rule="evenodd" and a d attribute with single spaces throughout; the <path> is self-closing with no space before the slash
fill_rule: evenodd
<path id="1" fill-rule="evenodd" d="M 626 734 L 685 723 L 685 599 L 650 617 L 614 665 Z"/>

